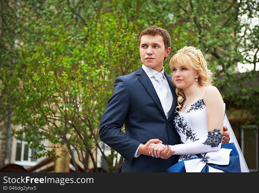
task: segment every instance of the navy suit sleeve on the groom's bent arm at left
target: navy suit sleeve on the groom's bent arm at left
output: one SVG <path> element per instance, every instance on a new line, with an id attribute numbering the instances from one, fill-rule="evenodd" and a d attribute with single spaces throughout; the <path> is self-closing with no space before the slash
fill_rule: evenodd
<path id="1" fill-rule="evenodd" d="M 140 142 L 121 131 L 129 111 L 129 104 L 127 84 L 121 76 L 117 77 L 114 81 L 114 92 L 108 100 L 102 117 L 99 137 L 105 144 L 132 162 Z"/>

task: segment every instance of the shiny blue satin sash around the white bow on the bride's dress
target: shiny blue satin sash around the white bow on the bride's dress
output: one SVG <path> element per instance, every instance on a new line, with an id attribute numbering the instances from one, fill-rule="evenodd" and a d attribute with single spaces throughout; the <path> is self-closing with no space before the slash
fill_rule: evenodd
<path id="1" fill-rule="evenodd" d="M 221 148 L 232 149 L 232 151 L 230 152 L 229 164 L 219 165 L 219 164 L 206 163 L 205 167 L 202 169 L 201 172 L 209 172 L 209 166 L 216 169 L 220 169 L 224 172 L 241 172 L 239 154 L 235 147 L 235 144 L 234 143 L 222 144 Z M 196 158 L 185 159 L 181 162 L 174 164 L 173 166 L 167 169 L 167 172 L 186 172 L 184 161 L 203 158 L 201 154 L 197 154 L 196 156 L 197 156 Z"/>

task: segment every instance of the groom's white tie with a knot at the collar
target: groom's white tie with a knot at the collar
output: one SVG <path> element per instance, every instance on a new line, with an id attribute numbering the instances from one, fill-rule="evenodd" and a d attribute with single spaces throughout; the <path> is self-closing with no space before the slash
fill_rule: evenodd
<path id="1" fill-rule="evenodd" d="M 168 105 L 166 105 L 166 101 L 168 100 L 167 99 L 168 91 L 165 85 L 163 84 L 163 75 L 161 73 L 157 73 L 154 75 L 154 78 L 156 81 L 158 81 L 159 89 L 157 91 L 157 95 L 160 99 L 164 112 L 167 116 L 167 112 L 170 110 L 171 107 L 168 107 Z"/>

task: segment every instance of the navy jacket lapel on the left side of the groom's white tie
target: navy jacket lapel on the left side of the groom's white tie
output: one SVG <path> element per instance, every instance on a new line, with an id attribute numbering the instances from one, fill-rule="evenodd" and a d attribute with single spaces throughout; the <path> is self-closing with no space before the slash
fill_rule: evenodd
<path id="1" fill-rule="evenodd" d="M 145 73 L 145 71 L 140 67 L 137 71 L 136 74 L 139 75 L 137 78 L 141 82 L 141 84 L 145 87 L 147 90 L 148 94 L 151 96 L 151 98 L 154 100 L 154 102 L 157 104 L 157 107 L 160 109 L 162 114 L 165 116 L 165 112 L 163 110 L 162 104 L 160 102 L 159 97 L 157 96 L 157 92 L 155 91 L 155 88 L 150 81 L 149 77 Z"/>

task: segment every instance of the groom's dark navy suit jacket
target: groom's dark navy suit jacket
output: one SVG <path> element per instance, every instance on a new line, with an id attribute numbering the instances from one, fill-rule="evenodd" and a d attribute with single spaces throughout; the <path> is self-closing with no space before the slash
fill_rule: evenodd
<path id="1" fill-rule="evenodd" d="M 170 76 L 169 83 L 173 103 L 168 120 L 163 111 L 155 88 L 145 71 L 119 76 L 114 82 L 114 92 L 108 100 L 99 128 L 100 139 L 124 158 L 121 172 L 166 172 L 178 162 L 178 155 L 168 159 L 134 154 L 140 143 L 160 139 L 163 144 L 179 144 L 180 137 L 173 125 L 177 96 Z M 126 134 L 121 131 L 125 125 Z"/>

